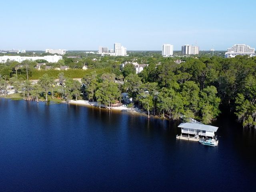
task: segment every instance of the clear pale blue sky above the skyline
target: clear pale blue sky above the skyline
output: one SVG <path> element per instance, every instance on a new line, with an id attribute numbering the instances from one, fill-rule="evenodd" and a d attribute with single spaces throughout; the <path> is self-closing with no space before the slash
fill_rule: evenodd
<path id="1" fill-rule="evenodd" d="M 255 0 L 12 0 L 0 3 L 0 49 L 128 50 L 195 44 L 256 48 Z"/>

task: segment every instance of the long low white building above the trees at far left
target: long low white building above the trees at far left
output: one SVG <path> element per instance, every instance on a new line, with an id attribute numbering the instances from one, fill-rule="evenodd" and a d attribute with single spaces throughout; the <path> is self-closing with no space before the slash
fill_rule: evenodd
<path id="1" fill-rule="evenodd" d="M 22 57 L 22 56 L 0 56 L 0 62 L 1 63 L 5 63 L 7 62 L 7 60 L 10 61 L 18 61 L 19 63 L 21 63 L 24 60 L 31 60 L 31 61 L 35 61 L 38 59 L 44 59 L 50 63 L 56 63 L 59 60 L 62 60 L 62 56 L 58 56 L 58 55 L 47 55 L 47 56 L 35 56 L 35 57 Z"/>

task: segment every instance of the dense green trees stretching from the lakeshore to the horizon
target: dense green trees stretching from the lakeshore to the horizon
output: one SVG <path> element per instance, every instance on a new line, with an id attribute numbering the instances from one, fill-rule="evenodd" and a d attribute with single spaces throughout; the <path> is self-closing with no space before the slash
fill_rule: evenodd
<path id="1" fill-rule="evenodd" d="M 174 62 L 177 59 L 183 62 L 177 64 Z M 129 61 L 148 64 L 148 67 L 139 74 L 133 64 L 120 68 L 122 63 Z M 47 65 L 67 65 L 70 70 L 38 71 L 34 69 L 36 62 L 29 61 L 0 64 L 1 94 L 5 95 L 5 87 L 12 84 L 22 90 L 24 99 L 47 97 L 46 92 L 58 78 L 63 91 L 56 94 L 64 100 L 83 96 L 111 107 L 118 100 L 122 101 L 122 92 L 127 92 L 132 98 L 129 105 L 132 108 L 135 105 L 163 118 L 182 116 L 203 123 L 214 120 L 222 105 L 234 112 L 243 126 L 256 127 L 254 57 L 223 58 L 206 54 L 199 58 L 163 58 L 158 52 L 130 52 L 128 57 L 98 54 L 64 57 L 58 63 Z M 81 69 L 84 65 L 88 70 Z M 38 84 L 30 85 L 27 76 L 29 80 L 39 79 Z M 82 86 L 72 78 L 82 78 Z"/>

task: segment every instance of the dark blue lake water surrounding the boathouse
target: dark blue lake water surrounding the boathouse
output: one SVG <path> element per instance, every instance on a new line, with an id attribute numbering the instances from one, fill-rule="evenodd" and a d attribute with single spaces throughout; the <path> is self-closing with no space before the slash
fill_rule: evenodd
<path id="1" fill-rule="evenodd" d="M 254 129 L 220 115 L 210 147 L 179 123 L 0 98 L 0 191 L 255 191 Z"/>

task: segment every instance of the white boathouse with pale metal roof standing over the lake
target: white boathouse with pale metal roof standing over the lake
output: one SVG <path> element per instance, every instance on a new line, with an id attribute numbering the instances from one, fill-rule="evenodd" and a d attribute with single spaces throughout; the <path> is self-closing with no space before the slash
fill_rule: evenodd
<path id="1" fill-rule="evenodd" d="M 214 137 L 215 132 L 218 127 L 211 125 L 204 125 L 202 123 L 181 123 L 179 126 L 181 128 L 181 134 L 192 134 L 195 138 L 201 137 Z"/>

